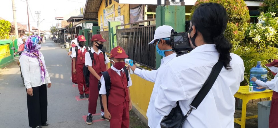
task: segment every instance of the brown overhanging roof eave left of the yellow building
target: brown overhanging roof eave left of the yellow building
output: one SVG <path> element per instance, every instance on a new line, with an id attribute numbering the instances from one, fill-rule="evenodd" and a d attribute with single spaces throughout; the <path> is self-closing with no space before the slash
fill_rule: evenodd
<path id="1" fill-rule="evenodd" d="M 102 0 L 87 0 L 84 9 L 84 19 L 96 20 L 98 17 L 98 9 Z"/>

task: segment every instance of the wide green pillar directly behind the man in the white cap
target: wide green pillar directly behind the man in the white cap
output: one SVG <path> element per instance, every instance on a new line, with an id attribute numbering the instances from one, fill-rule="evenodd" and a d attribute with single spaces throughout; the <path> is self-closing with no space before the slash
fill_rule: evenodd
<path id="1" fill-rule="evenodd" d="M 156 28 L 170 25 L 176 32 L 185 32 L 185 6 L 159 5 L 156 7 Z M 156 69 L 162 56 L 156 53 Z"/>

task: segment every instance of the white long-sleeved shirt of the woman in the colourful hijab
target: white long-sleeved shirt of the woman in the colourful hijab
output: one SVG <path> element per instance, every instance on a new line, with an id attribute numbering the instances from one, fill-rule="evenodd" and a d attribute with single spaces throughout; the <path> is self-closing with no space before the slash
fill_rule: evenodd
<path id="1" fill-rule="evenodd" d="M 41 59 L 45 63 L 43 54 L 41 54 Z M 19 59 L 21 72 L 24 77 L 25 87 L 37 87 L 46 83 L 51 83 L 50 77 L 48 75 L 47 69 L 45 68 L 45 80 L 41 80 L 41 67 L 37 58 L 32 58 L 27 55 L 20 56 Z"/>

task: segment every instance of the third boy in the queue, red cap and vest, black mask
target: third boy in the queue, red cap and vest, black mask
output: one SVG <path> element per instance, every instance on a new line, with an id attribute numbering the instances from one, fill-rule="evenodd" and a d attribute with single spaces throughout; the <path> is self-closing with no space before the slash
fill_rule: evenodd
<path id="1" fill-rule="evenodd" d="M 74 49 L 72 49 L 72 54 L 71 54 L 71 57 L 73 58 L 72 72 L 76 73 L 80 99 L 84 98 L 84 93 L 86 98 L 89 98 L 89 88 L 86 86 L 85 78 L 83 75 L 83 67 L 85 65 L 85 53 L 89 51 L 88 46 L 85 46 L 86 44 L 85 41 L 86 39 L 83 35 L 78 36 L 77 37 L 78 45 L 75 46 Z M 77 51 L 77 57 L 76 57 L 76 51 Z"/>

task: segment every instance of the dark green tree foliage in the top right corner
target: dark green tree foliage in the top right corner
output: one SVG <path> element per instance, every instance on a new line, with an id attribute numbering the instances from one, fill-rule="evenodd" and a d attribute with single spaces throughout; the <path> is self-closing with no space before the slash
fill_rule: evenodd
<path id="1" fill-rule="evenodd" d="M 264 2 L 259 6 L 259 11 L 265 13 L 276 13 L 278 16 L 278 0 L 264 0 Z"/>

